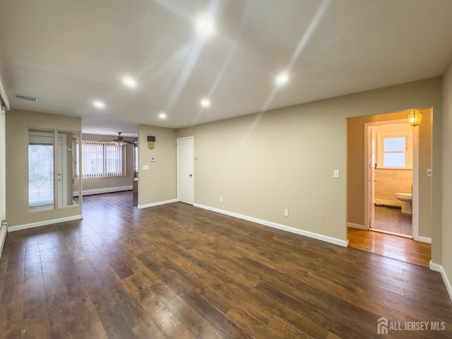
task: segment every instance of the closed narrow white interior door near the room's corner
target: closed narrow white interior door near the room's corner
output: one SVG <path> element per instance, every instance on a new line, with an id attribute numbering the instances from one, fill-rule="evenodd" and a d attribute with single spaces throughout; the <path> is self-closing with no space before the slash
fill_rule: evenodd
<path id="1" fill-rule="evenodd" d="M 177 139 L 177 199 L 194 204 L 194 138 Z"/>

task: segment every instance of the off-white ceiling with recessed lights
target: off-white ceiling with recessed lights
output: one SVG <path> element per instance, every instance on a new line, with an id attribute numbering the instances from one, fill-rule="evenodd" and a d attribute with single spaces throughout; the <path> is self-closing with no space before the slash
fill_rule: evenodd
<path id="1" fill-rule="evenodd" d="M 440 76 L 452 56 L 451 0 L 0 0 L 0 8 L 11 107 L 82 117 L 84 133 L 133 136 L 138 124 L 179 128 Z M 215 33 L 203 38 L 195 21 L 206 13 Z M 283 70 L 290 81 L 277 89 Z M 122 85 L 125 75 L 135 89 Z"/>

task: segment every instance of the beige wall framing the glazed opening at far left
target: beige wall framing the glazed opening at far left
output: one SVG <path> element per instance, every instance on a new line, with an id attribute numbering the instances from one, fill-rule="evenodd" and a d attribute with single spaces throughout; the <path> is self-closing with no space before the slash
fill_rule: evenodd
<path id="1" fill-rule="evenodd" d="M 81 132 L 81 118 L 58 114 L 6 112 L 6 220 L 8 226 L 25 225 L 82 214 L 80 205 L 54 210 L 28 208 L 28 129 Z"/>

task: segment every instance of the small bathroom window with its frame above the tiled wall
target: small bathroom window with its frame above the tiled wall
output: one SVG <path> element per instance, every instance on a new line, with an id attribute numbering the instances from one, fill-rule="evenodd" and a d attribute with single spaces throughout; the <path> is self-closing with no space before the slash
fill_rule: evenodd
<path id="1" fill-rule="evenodd" d="M 412 168 L 411 133 L 377 133 L 378 168 Z"/>

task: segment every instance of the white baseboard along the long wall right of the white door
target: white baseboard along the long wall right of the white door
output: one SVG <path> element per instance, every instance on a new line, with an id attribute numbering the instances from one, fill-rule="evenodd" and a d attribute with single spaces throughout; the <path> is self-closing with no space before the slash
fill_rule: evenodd
<path id="1" fill-rule="evenodd" d="M 286 232 L 291 232 L 291 233 L 295 233 L 295 234 L 304 235 L 305 237 L 318 239 L 318 240 L 321 240 L 323 242 L 329 242 L 331 244 L 347 247 L 347 241 L 346 240 L 332 238 L 332 237 L 328 237 L 326 235 L 318 234 L 318 233 L 314 233 L 314 232 L 299 230 L 298 228 L 295 228 L 295 227 L 285 226 L 285 225 L 277 224 L 276 222 L 270 222 L 270 221 L 266 221 L 266 220 L 261 220 L 261 219 L 249 217 L 248 215 L 242 215 L 242 214 L 230 212 L 228 210 L 220 210 L 219 208 L 214 208 L 214 207 L 210 207 L 210 206 L 204 206 L 204 205 L 200 205 L 198 203 L 194 203 L 193 206 L 194 207 L 198 207 L 198 208 L 203 208 L 205 210 L 211 210 L 213 212 L 217 212 L 217 213 L 221 213 L 221 214 L 225 214 L 225 215 L 230 215 L 231 217 L 234 217 L 234 218 L 239 218 L 239 219 L 243 219 L 243 220 L 247 220 L 247 221 L 251 221 L 251 222 L 256 222 L 256 224 L 261 224 L 261 225 L 264 225 L 264 226 L 277 228 L 278 230 L 283 230 L 283 231 L 286 231 Z"/>

